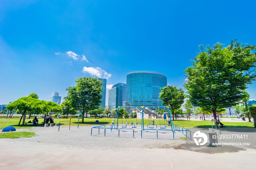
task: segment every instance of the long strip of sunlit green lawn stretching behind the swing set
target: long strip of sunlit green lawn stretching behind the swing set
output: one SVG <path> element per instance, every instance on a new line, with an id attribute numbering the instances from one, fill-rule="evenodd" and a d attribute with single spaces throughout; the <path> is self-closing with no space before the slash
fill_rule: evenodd
<path id="1" fill-rule="evenodd" d="M 85 125 L 107 125 L 112 123 L 113 118 L 84 118 L 84 123 L 82 124 L 82 118 L 79 118 L 79 126 L 85 126 Z M 25 122 L 28 122 L 33 119 L 26 119 Z M 39 118 L 39 125 L 41 122 L 44 121 L 43 118 Z M 99 123 L 97 124 L 95 121 L 98 120 Z M 151 120 L 144 119 L 144 124 L 147 125 L 148 123 L 151 123 Z M 135 123 L 138 122 L 141 124 L 141 119 L 136 119 L 136 118 L 129 118 L 129 119 L 118 119 L 118 123 L 126 123 L 131 122 Z M 166 120 L 159 120 L 155 119 L 155 124 L 166 124 Z M 54 123 L 59 123 L 60 125 L 69 125 L 69 118 L 54 118 Z M 115 123 L 117 122 L 117 119 Z M 22 123 L 22 122 L 21 122 Z M 253 122 L 222 122 L 227 126 L 227 128 L 253 128 Z M 15 128 L 31 128 L 32 124 L 28 124 L 27 126 L 22 126 L 19 125 L 19 118 L 2 118 L 0 119 L 0 129 L 3 129 L 7 126 L 14 126 Z M 211 128 L 211 121 L 193 121 L 193 120 L 174 120 L 173 124 L 179 125 L 180 127 L 185 127 L 185 128 Z M 77 126 L 78 125 L 78 118 L 71 118 L 71 126 Z"/>

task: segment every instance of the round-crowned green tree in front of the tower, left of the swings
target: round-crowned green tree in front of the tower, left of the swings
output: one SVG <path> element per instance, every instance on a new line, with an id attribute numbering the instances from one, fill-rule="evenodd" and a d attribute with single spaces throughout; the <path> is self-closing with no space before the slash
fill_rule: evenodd
<path id="1" fill-rule="evenodd" d="M 66 90 L 72 107 L 82 113 L 83 122 L 84 113 L 86 112 L 87 117 L 88 111 L 98 108 L 101 103 L 102 82 L 97 77 L 83 77 L 76 79 L 75 83 L 76 86 Z"/>

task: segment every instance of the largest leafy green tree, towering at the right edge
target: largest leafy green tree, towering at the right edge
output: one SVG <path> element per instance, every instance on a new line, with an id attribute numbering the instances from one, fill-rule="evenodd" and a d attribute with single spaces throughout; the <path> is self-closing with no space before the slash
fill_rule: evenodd
<path id="1" fill-rule="evenodd" d="M 242 90 L 256 78 L 256 46 L 231 41 L 227 47 L 217 43 L 213 47 L 200 45 L 201 52 L 185 70 L 188 81 L 184 87 L 194 106 L 212 110 L 237 105 L 244 98 Z"/>

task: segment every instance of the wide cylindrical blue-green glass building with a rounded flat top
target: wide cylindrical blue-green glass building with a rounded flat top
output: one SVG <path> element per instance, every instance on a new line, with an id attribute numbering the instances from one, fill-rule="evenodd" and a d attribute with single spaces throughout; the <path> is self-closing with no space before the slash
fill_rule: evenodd
<path id="1" fill-rule="evenodd" d="M 167 77 L 161 73 L 138 71 L 127 74 L 126 101 L 131 106 L 163 106 L 160 88 L 167 86 Z"/>

